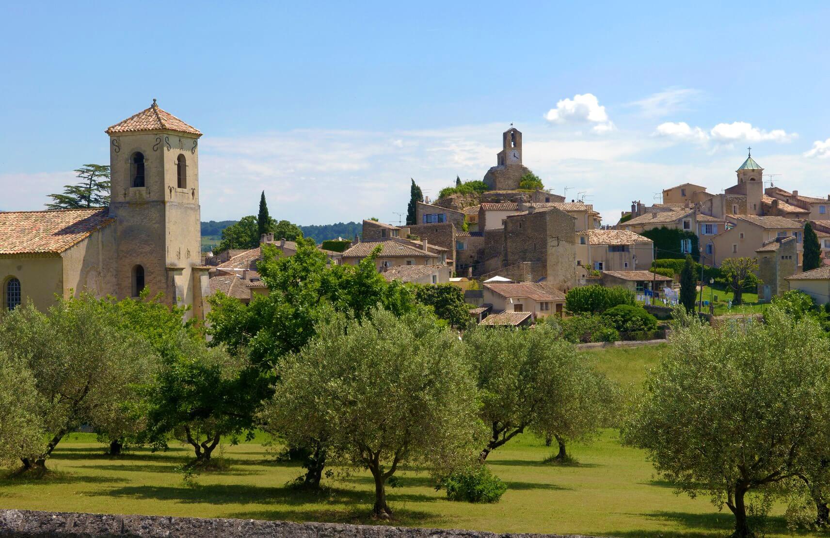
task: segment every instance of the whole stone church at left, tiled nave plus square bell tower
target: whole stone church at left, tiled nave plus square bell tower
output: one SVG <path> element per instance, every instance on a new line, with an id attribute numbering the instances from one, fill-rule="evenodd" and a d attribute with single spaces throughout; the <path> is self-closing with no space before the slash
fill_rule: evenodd
<path id="1" fill-rule="evenodd" d="M 153 105 L 105 130 L 110 207 L 0 212 L 0 306 L 39 310 L 89 292 L 118 299 L 144 287 L 203 318 L 196 128 Z"/>

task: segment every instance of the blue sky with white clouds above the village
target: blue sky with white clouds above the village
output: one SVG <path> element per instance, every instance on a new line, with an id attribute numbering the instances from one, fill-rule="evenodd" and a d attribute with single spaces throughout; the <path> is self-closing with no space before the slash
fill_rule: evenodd
<path id="1" fill-rule="evenodd" d="M 789 3 L 789 5 L 787 5 Z M 104 130 L 203 132 L 203 220 L 405 217 L 524 134 L 545 186 L 616 223 L 685 182 L 830 193 L 826 2 L 7 2 L 0 209 L 41 209 Z"/>

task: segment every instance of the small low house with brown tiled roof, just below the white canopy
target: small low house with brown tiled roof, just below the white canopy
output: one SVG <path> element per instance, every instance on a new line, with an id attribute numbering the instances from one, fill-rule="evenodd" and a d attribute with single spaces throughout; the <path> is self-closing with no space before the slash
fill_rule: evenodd
<path id="1" fill-rule="evenodd" d="M 530 312 L 537 318 L 564 311 L 565 294 L 547 284 L 485 284 L 483 291 L 484 304 L 494 312 Z"/>

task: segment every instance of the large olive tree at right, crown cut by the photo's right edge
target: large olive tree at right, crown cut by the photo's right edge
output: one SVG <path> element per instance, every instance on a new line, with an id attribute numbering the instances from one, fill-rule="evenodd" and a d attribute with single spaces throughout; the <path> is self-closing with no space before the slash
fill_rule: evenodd
<path id="1" fill-rule="evenodd" d="M 695 496 L 709 492 L 751 536 L 748 492 L 773 496 L 830 446 L 830 353 L 813 320 L 777 306 L 766 325 L 711 327 L 682 309 L 671 345 L 633 404 L 623 439 Z"/>

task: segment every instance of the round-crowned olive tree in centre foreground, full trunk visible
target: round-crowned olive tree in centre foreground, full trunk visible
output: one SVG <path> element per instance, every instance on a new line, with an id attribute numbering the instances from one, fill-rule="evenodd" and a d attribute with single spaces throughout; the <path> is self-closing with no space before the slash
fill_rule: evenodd
<path id="1" fill-rule="evenodd" d="M 475 459 L 475 380 L 457 335 L 432 315 L 330 314 L 279 370 L 266 430 L 290 446 L 323 440 L 330 458 L 369 469 L 374 516 L 392 515 L 386 482 L 403 463 L 440 473 Z"/>

